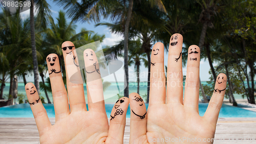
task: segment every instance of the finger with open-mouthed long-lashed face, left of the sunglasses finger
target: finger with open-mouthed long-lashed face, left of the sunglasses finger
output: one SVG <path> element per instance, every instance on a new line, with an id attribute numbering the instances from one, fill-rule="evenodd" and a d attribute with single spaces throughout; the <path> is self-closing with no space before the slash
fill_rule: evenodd
<path id="1" fill-rule="evenodd" d="M 69 115 L 68 95 L 63 83 L 58 56 L 56 54 L 50 54 L 47 56 L 46 62 L 51 81 L 55 122 L 57 122 L 59 119 Z"/>

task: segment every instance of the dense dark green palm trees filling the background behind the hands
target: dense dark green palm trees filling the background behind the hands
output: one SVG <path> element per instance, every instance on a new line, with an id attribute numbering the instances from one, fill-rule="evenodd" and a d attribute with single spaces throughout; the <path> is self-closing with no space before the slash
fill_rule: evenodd
<path id="1" fill-rule="evenodd" d="M 5 83 L 10 81 L 9 99 L 12 100 L 11 85 L 14 75 L 26 84 L 26 75 L 34 75 L 34 83 L 47 95 L 49 80 L 45 79 L 45 57 L 56 53 L 60 59 L 63 79 L 65 65 L 61 54 L 61 43 L 73 41 L 76 47 L 100 40 L 105 36 L 94 34 L 85 28 L 76 33 L 76 22 L 97 22 L 96 26 L 106 26 L 112 33 L 122 34 L 123 40 L 113 46 L 106 46 L 106 58 L 124 59 L 129 95 L 129 66 L 134 65 L 139 92 L 140 67 L 148 68 L 147 100 L 150 86 L 151 50 L 160 41 L 168 51 L 169 38 L 174 33 L 183 35 L 183 65 L 186 65 L 187 47 L 198 44 L 201 60 L 208 60 L 210 81 L 204 85 L 200 81 L 200 94 L 207 103 L 214 89 L 218 73 L 227 75 L 226 97 L 237 106 L 234 93 L 242 94 L 248 103 L 255 104 L 256 75 L 256 2 L 253 0 L 54 0 L 63 8 L 56 19 L 51 17 L 46 0 L 32 1 L 38 9 L 30 18 L 21 19 L 19 14 L 6 17 L 0 14 L 0 99 L 3 98 Z M 67 17 L 71 22 L 67 22 Z M 108 18 L 110 22 L 102 22 Z M 28 37 L 24 37 L 27 35 Z M 217 66 L 216 66 L 217 64 Z M 42 82 L 39 84 L 39 76 Z M 47 97 L 48 103 L 51 103 Z"/>

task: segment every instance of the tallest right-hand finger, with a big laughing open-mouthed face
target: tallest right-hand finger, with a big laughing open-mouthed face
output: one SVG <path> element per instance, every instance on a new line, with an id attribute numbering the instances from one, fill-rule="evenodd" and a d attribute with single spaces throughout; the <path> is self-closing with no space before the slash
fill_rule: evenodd
<path id="1" fill-rule="evenodd" d="M 174 34 L 170 37 L 166 103 L 183 103 L 182 43 L 181 34 Z"/>

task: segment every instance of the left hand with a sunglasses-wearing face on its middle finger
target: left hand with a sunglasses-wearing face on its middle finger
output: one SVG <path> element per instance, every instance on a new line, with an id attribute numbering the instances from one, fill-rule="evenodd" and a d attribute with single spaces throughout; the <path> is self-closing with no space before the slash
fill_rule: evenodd
<path id="1" fill-rule="evenodd" d="M 81 75 L 76 73 L 79 71 L 79 64 L 74 59 L 74 56 L 77 56 L 74 44 L 70 41 L 64 42 L 62 44 L 62 52 L 66 65 L 69 99 L 60 73 L 58 56 L 56 54 L 47 56 L 55 110 L 55 125 L 51 125 L 46 109 L 41 101 L 38 100 L 39 96 L 35 86 L 32 83 L 28 83 L 25 86 L 39 131 L 40 143 L 123 143 L 125 115 L 129 99 L 121 98 L 115 104 L 111 113 L 114 118 L 111 119 L 109 126 L 99 71 L 86 74 L 88 111 L 84 99 Z M 89 60 L 86 53 L 90 53 L 90 59 L 93 59 L 93 62 Z M 88 71 L 93 71 L 96 66 L 98 67 L 98 65 L 93 65 L 95 62 L 98 63 L 98 60 L 94 51 L 91 49 L 84 51 L 84 63 Z M 74 75 L 71 77 L 71 74 Z M 100 101 L 97 102 L 98 100 Z M 117 111 L 118 114 L 115 114 Z"/>

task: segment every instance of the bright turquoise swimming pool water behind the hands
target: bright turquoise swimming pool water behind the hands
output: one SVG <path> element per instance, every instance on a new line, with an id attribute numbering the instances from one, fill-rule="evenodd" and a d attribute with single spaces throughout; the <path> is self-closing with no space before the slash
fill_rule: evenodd
<path id="1" fill-rule="evenodd" d="M 145 104 L 146 107 L 148 104 Z M 53 104 L 44 104 L 49 117 L 55 117 Z M 105 104 L 106 114 L 110 117 L 114 104 Z M 199 104 L 199 114 L 204 115 L 208 104 Z M 88 108 L 88 105 L 87 105 Z M 126 117 L 130 117 L 130 105 Z M 33 117 L 29 104 L 19 104 L 0 108 L 0 117 Z M 245 110 L 238 107 L 222 105 L 219 117 L 256 117 L 256 112 Z"/>

